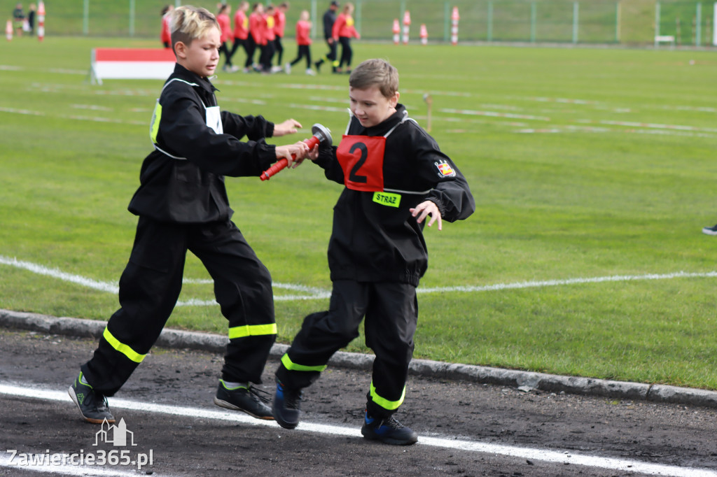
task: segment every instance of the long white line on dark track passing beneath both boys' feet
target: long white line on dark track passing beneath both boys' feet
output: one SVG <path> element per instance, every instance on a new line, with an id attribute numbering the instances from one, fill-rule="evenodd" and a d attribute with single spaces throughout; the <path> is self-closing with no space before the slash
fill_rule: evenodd
<path id="1" fill-rule="evenodd" d="M 12 384 L 0 383 L 0 394 L 12 397 L 23 397 L 47 401 L 61 401 L 67 403 L 68 408 L 72 407 L 67 392 L 53 390 L 39 390 L 37 385 L 32 387 L 20 387 Z M 198 418 L 218 420 L 222 422 L 242 423 L 246 425 L 262 425 L 268 428 L 280 429 L 274 421 L 259 420 L 243 413 L 233 413 L 226 410 L 208 410 L 204 408 L 189 408 L 184 406 L 152 404 L 137 402 L 127 399 L 113 398 L 110 403 L 113 409 L 126 409 L 146 413 L 176 415 L 184 418 Z M 326 435 L 341 435 L 351 438 L 362 438 L 358 428 L 348 428 L 339 425 L 317 424 L 302 422 L 295 431 L 308 432 Z M 284 432 L 282 430 L 282 432 Z M 478 452 L 498 454 L 512 458 L 526 458 L 534 461 L 551 463 L 571 464 L 574 466 L 586 466 L 604 468 L 610 471 L 630 471 L 634 473 L 646 473 L 654 476 L 677 476 L 677 477 L 717 477 L 717 472 L 706 468 L 690 468 L 669 466 L 643 461 L 633 461 L 621 458 L 609 458 L 591 456 L 589 454 L 574 453 L 564 450 L 547 450 L 540 448 L 519 447 L 517 445 L 501 445 L 485 443 L 477 440 L 458 440 L 455 438 L 437 438 L 419 436 L 417 445 L 430 445 L 432 447 L 446 448 L 451 450 L 465 450 L 467 452 Z"/>

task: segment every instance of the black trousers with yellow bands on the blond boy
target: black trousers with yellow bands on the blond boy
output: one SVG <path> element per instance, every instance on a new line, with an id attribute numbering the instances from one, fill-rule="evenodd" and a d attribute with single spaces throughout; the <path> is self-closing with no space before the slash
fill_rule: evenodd
<path id="1" fill-rule="evenodd" d="M 81 367 L 95 391 L 117 392 L 156 342 L 179 298 L 188 250 L 214 279 L 214 296 L 229 320 L 222 379 L 261 382 L 276 339 L 271 276 L 237 226 L 229 220 L 186 224 L 140 217 L 120 277 L 120 309 Z"/>

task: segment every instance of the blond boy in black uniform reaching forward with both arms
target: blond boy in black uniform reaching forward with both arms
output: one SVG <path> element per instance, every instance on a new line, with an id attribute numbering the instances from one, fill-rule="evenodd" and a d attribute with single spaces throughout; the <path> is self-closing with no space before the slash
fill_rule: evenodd
<path id="1" fill-rule="evenodd" d="M 271 276 L 230 220 L 224 175 L 259 176 L 277 158 L 295 167 L 308 146 L 265 142 L 295 133 L 301 127 L 295 120 L 275 125 L 261 116 L 219 112 L 207 79 L 219 62 L 214 15 L 179 7 L 172 13 L 171 32 L 177 63 L 157 101 L 150 127 L 154 150 L 142 164 L 141 184 L 129 205 L 139 218 L 120 277 L 120 309 L 68 391 L 88 422 L 115 421 L 107 396 L 128 380 L 159 337 L 179 297 L 189 250 L 214 279 L 214 295 L 229 320 L 214 403 L 272 419 L 252 387 L 261 382 L 276 336 Z M 243 136 L 249 140 L 240 141 Z"/>

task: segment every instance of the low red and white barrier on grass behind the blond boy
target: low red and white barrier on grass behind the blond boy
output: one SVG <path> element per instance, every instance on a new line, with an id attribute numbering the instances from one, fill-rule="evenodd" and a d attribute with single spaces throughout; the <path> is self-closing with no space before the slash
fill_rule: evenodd
<path id="1" fill-rule="evenodd" d="M 93 48 L 90 82 L 166 80 L 174 64 L 174 52 L 166 48 Z"/>

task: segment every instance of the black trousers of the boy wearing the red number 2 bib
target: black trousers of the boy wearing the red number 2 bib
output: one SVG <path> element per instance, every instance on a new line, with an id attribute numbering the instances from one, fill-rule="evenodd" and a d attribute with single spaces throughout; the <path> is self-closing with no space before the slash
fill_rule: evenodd
<path id="1" fill-rule="evenodd" d="M 394 282 L 333 282 L 328 312 L 305 317 L 276 377 L 285 387 L 303 388 L 318 379 L 331 356 L 359 336 L 376 355 L 366 410 L 387 418 L 403 403 L 418 320 L 416 287 Z"/>

